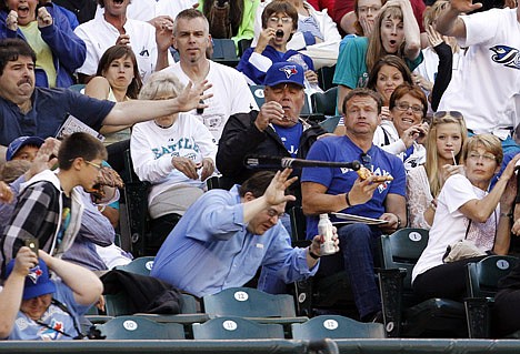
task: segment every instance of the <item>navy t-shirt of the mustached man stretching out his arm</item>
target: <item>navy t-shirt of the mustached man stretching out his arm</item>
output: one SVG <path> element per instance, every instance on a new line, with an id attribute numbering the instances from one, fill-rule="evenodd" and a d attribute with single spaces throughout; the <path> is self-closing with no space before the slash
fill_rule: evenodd
<path id="1" fill-rule="evenodd" d="M 89 98 L 68 89 L 36 88 L 32 109 L 23 114 L 17 104 L 0 98 L 0 145 L 9 145 L 19 136 L 56 136 L 70 113 L 99 130 L 114 102 Z"/>

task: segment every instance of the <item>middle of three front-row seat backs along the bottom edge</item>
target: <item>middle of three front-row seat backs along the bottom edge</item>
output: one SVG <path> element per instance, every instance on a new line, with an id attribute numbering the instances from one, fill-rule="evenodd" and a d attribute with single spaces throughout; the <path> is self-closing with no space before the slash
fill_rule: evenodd
<path id="1" fill-rule="evenodd" d="M 250 320 L 226 316 L 192 324 L 194 340 L 261 340 L 283 338 L 283 326 L 261 324 Z"/>

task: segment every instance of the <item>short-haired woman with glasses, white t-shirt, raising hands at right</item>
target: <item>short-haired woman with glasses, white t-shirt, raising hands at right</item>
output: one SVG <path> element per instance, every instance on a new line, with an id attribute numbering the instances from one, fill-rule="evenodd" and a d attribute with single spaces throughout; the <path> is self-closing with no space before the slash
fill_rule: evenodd
<path id="1" fill-rule="evenodd" d="M 466 264 L 479 261 L 488 252 L 508 253 L 509 215 L 517 194 L 517 180 L 512 176 L 520 154 L 511 160 L 489 191 L 502 158 L 502 146 L 497 136 L 480 134 L 468 139 L 462 153 L 466 175 L 456 173 L 444 182 L 428 245 L 413 267 L 412 286 L 421 299 L 462 300 L 466 296 Z M 450 261 L 448 246 L 453 247 L 464 240 L 472 255 Z"/>

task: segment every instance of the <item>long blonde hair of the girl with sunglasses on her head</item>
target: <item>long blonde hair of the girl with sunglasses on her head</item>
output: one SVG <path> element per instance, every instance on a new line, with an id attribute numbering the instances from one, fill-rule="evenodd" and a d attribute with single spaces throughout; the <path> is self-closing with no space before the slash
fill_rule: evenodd
<path id="1" fill-rule="evenodd" d="M 427 161 L 424 163 L 424 170 L 427 172 L 428 182 L 430 182 L 430 192 L 433 198 L 437 198 L 442 189 L 441 181 L 439 180 L 439 152 L 437 150 L 437 130 L 439 125 L 454 123 L 459 124 L 460 135 L 462 139 L 460 151 L 456 155 L 456 161 L 459 163 L 462 156 L 463 149 L 468 141 L 468 129 L 462 117 L 456 118 L 450 113 L 447 113 L 442 118 L 433 118 L 430 131 L 428 132 L 428 140 L 426 144 L 427 149 Z"/>

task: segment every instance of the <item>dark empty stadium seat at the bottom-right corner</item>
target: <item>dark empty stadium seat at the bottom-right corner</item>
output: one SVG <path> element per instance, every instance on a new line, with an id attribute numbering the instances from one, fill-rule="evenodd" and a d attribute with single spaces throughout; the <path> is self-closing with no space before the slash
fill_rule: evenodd
<path id="1" fill-rule="evenodd" d="M 470 338 L 491 337 L 490 307 L 498 292 L 498 282 L 518 264 L 510 255 L 490 255 L 467 265 L 468 299 L 464 300 Z"/>

